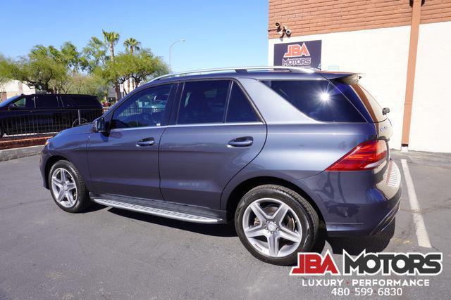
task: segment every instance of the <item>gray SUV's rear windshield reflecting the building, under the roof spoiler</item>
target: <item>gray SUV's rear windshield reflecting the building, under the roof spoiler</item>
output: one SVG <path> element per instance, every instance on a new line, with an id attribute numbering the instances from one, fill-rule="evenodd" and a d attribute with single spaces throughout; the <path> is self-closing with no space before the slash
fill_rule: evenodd
<path id="1" fill-rule="evenodd" d="M 387 119 L 382 113 L 382 107 L 376 99 L 360 84 L 344 84 L 333 81 L 342 93 L 359 109 L 369 122 L 382 122 Z"/>

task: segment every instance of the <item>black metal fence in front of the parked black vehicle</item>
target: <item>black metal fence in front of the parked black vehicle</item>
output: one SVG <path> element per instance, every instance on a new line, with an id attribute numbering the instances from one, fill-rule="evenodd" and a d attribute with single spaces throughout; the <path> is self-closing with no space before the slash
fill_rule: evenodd
<path id="1" fill-rule="evenodd" d="M 51 136 L 63 129 L 90 123 L 102 114 L 101 109 L 1 111 L 0 141 Z"/>

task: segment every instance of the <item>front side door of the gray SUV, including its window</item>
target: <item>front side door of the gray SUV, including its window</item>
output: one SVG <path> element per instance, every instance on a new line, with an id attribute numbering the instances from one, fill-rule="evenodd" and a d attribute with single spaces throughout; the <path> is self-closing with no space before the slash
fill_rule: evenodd
<path id="1" fill-rule="evenodd" d="M 166 84 L 133 93 L 106 116 L 109 133 L 92 134 L 87 153 L 95 192 L 163 200 L 158 150 L 176 87 Z"/>

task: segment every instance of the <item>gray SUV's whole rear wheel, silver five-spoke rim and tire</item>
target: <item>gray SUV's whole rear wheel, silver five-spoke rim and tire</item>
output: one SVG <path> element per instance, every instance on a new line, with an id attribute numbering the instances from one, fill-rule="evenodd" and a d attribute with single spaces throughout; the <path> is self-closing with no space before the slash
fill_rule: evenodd
<path id="1" fill-rule="evenodd" d="M 313 247 L 319 218 L 301 195 L 279 185 L 260 185 L 242 197 L 235 228 L 252 255 L 281 266 L 294 265 L 297 252 Z"/>

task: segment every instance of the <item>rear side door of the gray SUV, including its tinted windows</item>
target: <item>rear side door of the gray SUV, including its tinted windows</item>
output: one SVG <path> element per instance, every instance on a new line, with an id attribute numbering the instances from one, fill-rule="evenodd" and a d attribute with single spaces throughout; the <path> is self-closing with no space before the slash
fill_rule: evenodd
<path id="1" fill-rule="evenodd" d="M 235 81 L 186 81 L 161 137 L 164 200 L 219 209 L 221 193 L 263 148 L 266 124 Z"/>

